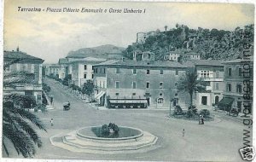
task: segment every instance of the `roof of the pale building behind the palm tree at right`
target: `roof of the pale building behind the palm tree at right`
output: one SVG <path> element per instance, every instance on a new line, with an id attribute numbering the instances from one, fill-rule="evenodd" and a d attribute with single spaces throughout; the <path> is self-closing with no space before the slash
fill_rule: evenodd
<path id="1" fill-rule="evenodd" d="M 224 67 L 223 61 L 218 60 L 191 60 L 184 63 L 188 67 L 195 66 L 211 66 L 211 67 Z"/>

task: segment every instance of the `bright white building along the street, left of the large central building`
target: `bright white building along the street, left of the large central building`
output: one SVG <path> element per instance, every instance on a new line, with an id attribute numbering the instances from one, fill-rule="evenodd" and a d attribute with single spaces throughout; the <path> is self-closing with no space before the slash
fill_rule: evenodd
<path id="1" fill-rule="evenodd" d="M 94 78 L 92 66 L 103 61 L 106 61 L 106 59 L 93 57 L 87 57 L 78 61 L 71 61 L 70 66 L 72 67 L 72 83 L 82 88 L 87 80 Z"/>

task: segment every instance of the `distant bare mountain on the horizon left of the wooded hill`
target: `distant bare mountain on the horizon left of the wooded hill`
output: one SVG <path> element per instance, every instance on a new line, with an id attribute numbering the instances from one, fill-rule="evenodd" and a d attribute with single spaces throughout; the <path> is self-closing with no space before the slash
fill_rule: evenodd
<path id="1" fill-rule="evenodd" d="M 70 51 L 67 54 L 69 58 L 84 58 L 84 57 L 96 57 L 105 59 L 120 59 L 123 57 L 122 51 L 125 48 L 117 47 L 112 44 L 101 45 L 92 48 L 83 48 L 75 51 Z"/>

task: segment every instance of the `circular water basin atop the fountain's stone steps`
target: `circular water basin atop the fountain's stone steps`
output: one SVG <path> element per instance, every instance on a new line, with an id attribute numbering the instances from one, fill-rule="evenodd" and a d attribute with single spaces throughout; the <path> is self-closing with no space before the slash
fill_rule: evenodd
<path id="1" fill-rule="evenodd" d="M 137 128 L 119 126 L 118 136 L 102 136 L 102 126 L 85 127 L 77 131 L 77 136 L 84 139 L 100 141 L 123 141 L 137 139 L 143 136 L 143 130 Z"/>

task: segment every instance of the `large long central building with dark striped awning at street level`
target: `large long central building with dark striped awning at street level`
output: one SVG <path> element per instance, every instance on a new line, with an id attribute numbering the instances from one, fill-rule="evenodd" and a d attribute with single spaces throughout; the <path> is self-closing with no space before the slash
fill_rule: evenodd
<path id="1" fill-rule="evenodd" d="M 94 66 L 96 100 L 107 107 L 170 107 L 185 105 L 189 97 L 177 93 L 186 71 L 178 62 L 106 61 Z"/>

